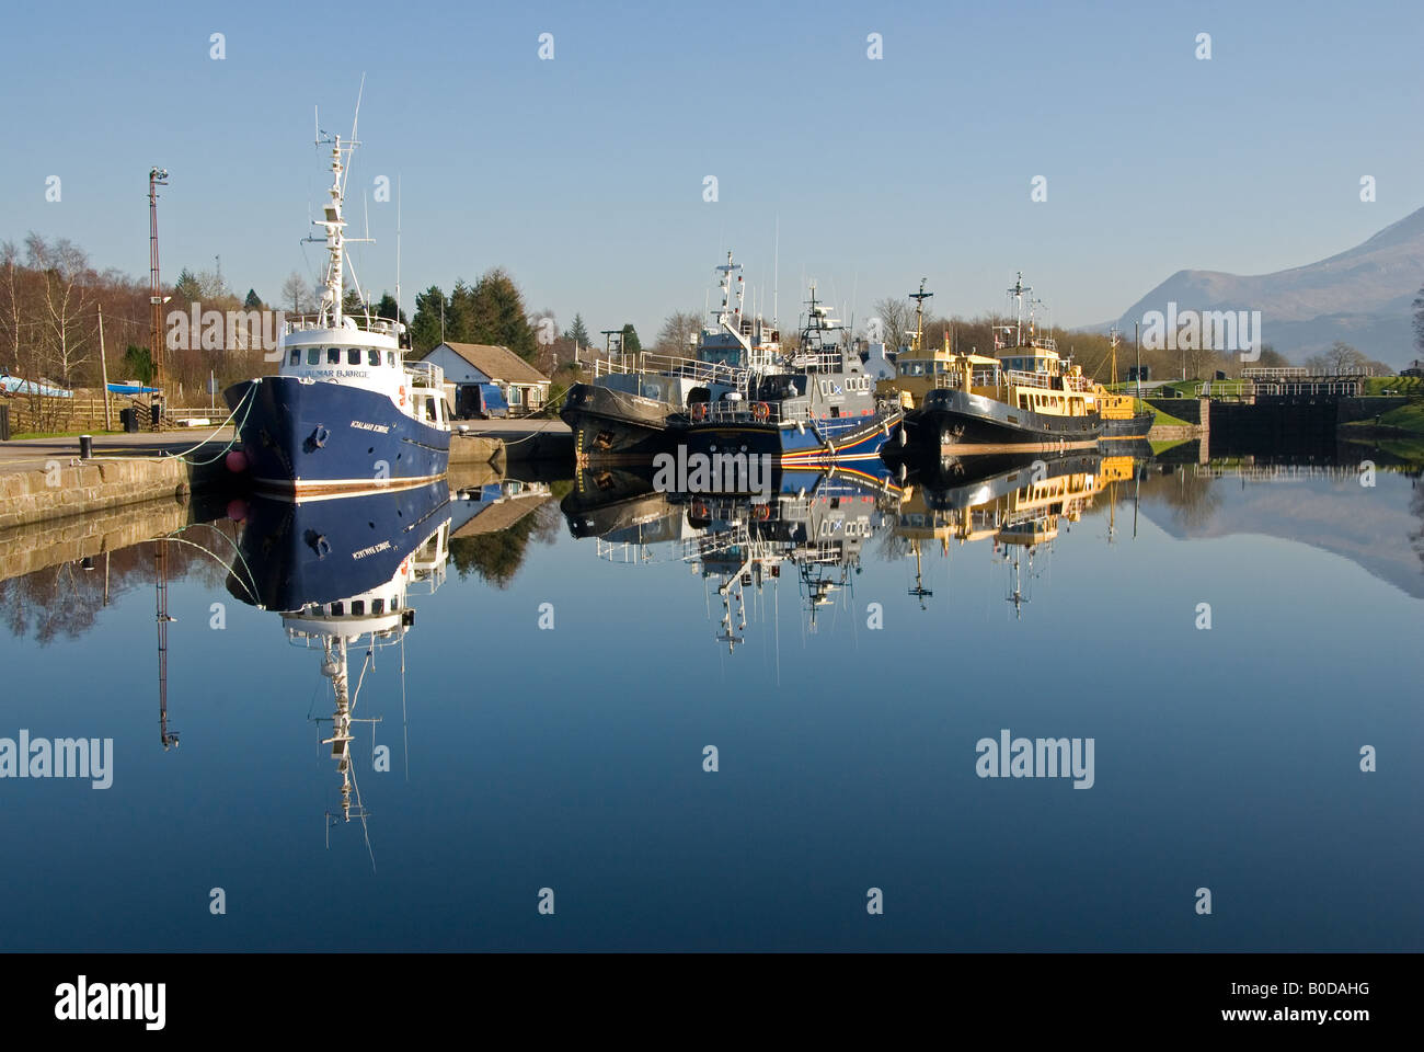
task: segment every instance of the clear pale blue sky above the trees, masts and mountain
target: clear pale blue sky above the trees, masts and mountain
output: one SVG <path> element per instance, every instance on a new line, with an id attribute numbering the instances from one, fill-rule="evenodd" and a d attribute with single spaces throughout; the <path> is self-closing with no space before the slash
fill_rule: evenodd
<path id="1" fill-rule="evenodd" d="M 320 261 L 313 104 L 347 133 L 365 73 L 347 215 L 399 177 L 407 311 L 504 265 L 531 309 L 651 336 L 732 248 L 770 312 L 779 222 L 783 322 L 803 278 L 859 321 L 921 277 L 941 312 L 998 308 L 1022 269 L 1085 325 L 1179 268 L 1307 264 L 1424 205 L 1421 29 L 1407 3 L 31 6 L 0 66 L 0 239 L 144 275 L 158 164 L 165 277 L 221 254 L 275 299 Z M 396 205 L 369 215 L 380 291 Z"/>

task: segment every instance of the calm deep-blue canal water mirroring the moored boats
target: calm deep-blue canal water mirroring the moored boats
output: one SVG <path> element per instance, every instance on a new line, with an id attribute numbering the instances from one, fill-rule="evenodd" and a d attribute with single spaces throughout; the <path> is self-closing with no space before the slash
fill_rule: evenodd
<path id="1" fill-rule="evenodd" d="M 0 948 L 1420 949 L 1418 480 L 1225 472 L 1096 465 L 1037 520 L 968 476 L 813 480 L 740 525 L 627 479 L 414 529 L 393 497 L 249 507 L 168 546 L 169 750 L 155 546 L 14 577 L 0 737 L 114 760 L 107 790 L 0 780 Z M 360 683 L 350 821 L 323 651 L 244 587 L 414 610 Z M 1092 738 L 1091 788 L 978 777 L 1004 728 Z"/>

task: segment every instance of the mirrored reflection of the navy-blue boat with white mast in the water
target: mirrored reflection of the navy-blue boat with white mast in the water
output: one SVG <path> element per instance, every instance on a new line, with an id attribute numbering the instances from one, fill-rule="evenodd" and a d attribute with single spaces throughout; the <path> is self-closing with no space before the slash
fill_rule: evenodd
<path id="1" fill-rule="evenodd" d="M 362 683 L 386 647 L 402 649 L 404 674 L 406 634 L 416 620 L 409 597 L 417 586 L 433 592 L 444 580 L 449 540 L 444 482 L 312 503 L 256 499 L 244 515 L 228 592 L 281 613 L 292 646 L 320 650 L 335 704 L 322 744 L 336 760 L 346 821 L 366 817 L 350 757 Z M 353 687 L 349 656 L 362 640 L 365 660 Z"/>

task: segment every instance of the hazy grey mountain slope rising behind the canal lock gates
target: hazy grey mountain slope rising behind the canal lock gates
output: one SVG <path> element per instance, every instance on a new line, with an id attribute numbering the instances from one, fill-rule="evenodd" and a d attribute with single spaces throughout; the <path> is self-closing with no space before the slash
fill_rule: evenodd
<path id="1" fill-rule="evenodd" d="M 1178 271 L 1118 319 L 1132 332 L 1148 311 L 1260 311 L 1263 342 L 1304 361 L 1343 339 L 1370 358 L 1418 358 L 1413 302 L 1424 285 L 1424 208 L 1329 259 L 1274 274 Z"/>

